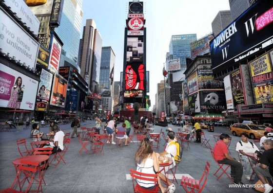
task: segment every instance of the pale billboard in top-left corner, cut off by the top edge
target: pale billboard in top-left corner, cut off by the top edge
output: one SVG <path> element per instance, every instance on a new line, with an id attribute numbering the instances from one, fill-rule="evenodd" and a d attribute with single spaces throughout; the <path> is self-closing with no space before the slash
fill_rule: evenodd
<path id="1" fill-rule="evenodd" d="M 5 0 L 3 3 L 10 7 L 13 13 L 16 13 L 16 16 L 25 23 L 29 30 L 33 31 L 33 34 L 38 35 L 40 21 L 25 4 L 24 0 Z"/>

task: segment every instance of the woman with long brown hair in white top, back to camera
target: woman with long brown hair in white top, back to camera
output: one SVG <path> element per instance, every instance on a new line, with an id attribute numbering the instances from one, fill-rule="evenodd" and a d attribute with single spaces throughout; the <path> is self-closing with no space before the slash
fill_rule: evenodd
<path id="1" fill-rule="evenodd" d="M 137 162 L 137 171 L 145 174 L 157 174 L 159 170 L 159 154 L 152 150 L 151 142 L 148 138 L 144 138 L 136 152 L 135 159 Z M 161 185 L 159 176 L 158 185 L 162 193 L 166 192 L 166 189 Z M 137 184 L 141 188 L 147 190 L 153 190 L 155 188 L 155 182 L 137 179 Z"/>

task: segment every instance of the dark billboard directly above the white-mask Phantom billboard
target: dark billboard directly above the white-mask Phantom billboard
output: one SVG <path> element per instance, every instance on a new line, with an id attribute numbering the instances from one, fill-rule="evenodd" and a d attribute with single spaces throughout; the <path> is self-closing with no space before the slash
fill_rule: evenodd
<path id="1" fill-rule="evenodd" d="M 223 88 L 223 81 L 221 79 L 214 79 L 212 69 L 198 69 L 197 73 L 199 89 Z"/>

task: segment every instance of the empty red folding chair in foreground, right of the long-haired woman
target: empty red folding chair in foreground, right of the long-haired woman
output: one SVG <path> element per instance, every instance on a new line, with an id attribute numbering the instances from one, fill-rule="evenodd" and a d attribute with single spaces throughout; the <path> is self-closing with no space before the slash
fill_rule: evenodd
<path id="1" fill-rule="evenodd" d="M 186 177 L 186 176 L 182 175 L 180 185 L 183 186 L 184 190 L 187 193 L 195 193 L 195 190 L 198 191 L 197 193 L 201 193 L 207 183 L 207 178 L 208 178 L 208 175 L 210 172 L 210 168 L 211 168 L 211 165 L 207 161 L 207 164 L 205 166 L 205 170 L 204 170 L 203 175 L 200 180 L 196 180 L 194 178 Z M 201 186 L 202 181 L 203 181 L 203 184 Z M 188 190 L 188 188 L 190 188 L 190 190 Z"/>

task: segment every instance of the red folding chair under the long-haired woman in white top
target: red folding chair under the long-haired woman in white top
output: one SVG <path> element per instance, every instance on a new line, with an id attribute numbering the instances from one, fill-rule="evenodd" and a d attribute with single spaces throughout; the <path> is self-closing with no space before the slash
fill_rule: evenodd
<path id="1" fill-rule="evenodd" d="M 134 193 L 158 193 L 159 185 L 158 185 L 157 174 L 145 174 L 145 173 L 137 172 L 132 169 L 130 169 L 130 173 L 133 178 L 132 181 L 133 181 Z M 141 186 L 139 186 L 137 183 L 137 181 L 141 182 L 141 180 L 146 180 L 146 181 L 150 181 L 151 183 L 155 183 L 155 188 L 152 190 L 141 188 Z"/>

